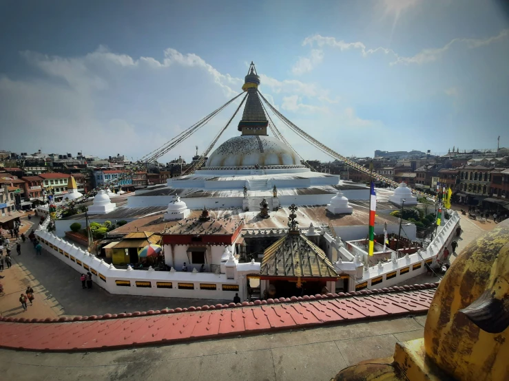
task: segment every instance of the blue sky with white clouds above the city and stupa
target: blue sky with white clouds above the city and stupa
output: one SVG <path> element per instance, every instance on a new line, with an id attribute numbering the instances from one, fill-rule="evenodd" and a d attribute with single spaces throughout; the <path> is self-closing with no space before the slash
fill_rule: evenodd
<path id="1" fill-rule="evenodd" d="M 240 93 L 250 61 L 343 155 L 509 146 L 508 20 L 489 0 L 1 1 L 0 149 L 136 159 Z M 205 149 L 234 109 L 162 160 Z"/>

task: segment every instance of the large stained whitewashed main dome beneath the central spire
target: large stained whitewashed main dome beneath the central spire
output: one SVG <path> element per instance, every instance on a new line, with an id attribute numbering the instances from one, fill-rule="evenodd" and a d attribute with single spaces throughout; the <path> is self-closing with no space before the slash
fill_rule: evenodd
<path id="1" fill-rule="evenodd" d="M 264 135 L 242 135 L 222 143 L 207 160 L 209 166 L 298 165 L 293 150 L 276 138 Z"/>

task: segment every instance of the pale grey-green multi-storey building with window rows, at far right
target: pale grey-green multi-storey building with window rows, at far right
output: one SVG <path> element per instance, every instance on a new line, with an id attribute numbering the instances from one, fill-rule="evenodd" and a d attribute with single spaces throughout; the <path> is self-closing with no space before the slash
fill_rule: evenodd
<path id="1" fill-rule="evenodd" d="M 466 165 L 457 168 L 459 170 L 459 193 L 460 202 L 476 204 L 488 197 L 492 168 L 480 165 Z"/>

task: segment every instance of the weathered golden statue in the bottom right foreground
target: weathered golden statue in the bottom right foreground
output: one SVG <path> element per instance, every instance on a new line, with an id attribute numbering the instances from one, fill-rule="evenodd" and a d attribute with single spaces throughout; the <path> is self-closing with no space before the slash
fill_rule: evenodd
<path id="1" fill-rule="evenodd" d="M 333 380 L 509 380 L 509 220 L 472 241 L 447 270 L 424 339 L 362 361 Z"/>

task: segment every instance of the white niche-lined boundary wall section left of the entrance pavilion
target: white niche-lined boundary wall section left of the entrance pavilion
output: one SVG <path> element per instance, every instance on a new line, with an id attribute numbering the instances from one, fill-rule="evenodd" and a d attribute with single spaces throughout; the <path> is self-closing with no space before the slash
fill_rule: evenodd
<path id="1" fill-rule="evenodd" d="M 35 231 L 43 248 L 79 274 L 92 272 L 92 281 L 111 294 L 233 301 L 233 296 L 238 292 L 241 300 L 245 300 L 245 276 L 260 273 L 260 263 L 236 263 L 233 279 L 227 279 L 226 274 L 207 272 L 117 269 L 48 232 L 46 228 L 49 222 L 50 219 L 46 219 Z M 76 274 L 76 282 L 79 282 L 79 274 Z"/>

